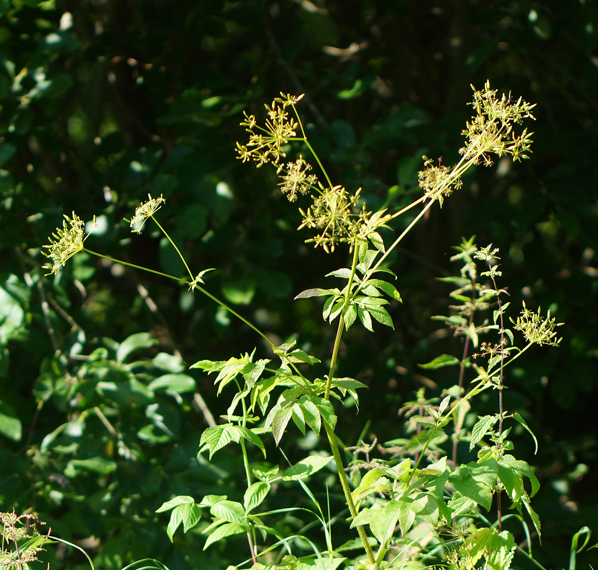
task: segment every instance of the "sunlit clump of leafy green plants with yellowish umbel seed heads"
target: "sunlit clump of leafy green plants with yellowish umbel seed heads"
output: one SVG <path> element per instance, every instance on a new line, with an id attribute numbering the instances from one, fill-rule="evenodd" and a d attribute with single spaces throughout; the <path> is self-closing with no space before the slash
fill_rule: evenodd
<path id="1" fill-rule="evenodd" d="M 511 532 L 503 528 L 505 520 L 517 519 L 529 544 L 531 533 L 527 520 L 531 520 L 538 536 L 540 522 L 531 504 L 538 491 L 538 479 L 526 462 L 515 459 L 511 453 L 512 425 L 521 425 L 530 433 L 531 430 L 520 414 L 504 409 L 505 369 L 533 344 L 558 345 L 560 339 L 555 331 L 559 323 L 550 312 L 542 317 L 539 309 L 534 312 L 523 305 L 515 320 L 508 319 L 507 293 L 498 284 L 501 271 L 497 248 L 492 245 L 478 248 L 473 238 L 464 239 L 456 248 L 453 259 L 462 262 L 462 269 L 459 276 L 444 280 L 456 287 L 451 296 L 459 304 L 452 307 L 450 316 L 435 318 L 446 323 L 455 335 L 463 337 L 463 351 L 459 357 L 443 354 L 423 367 L 454 366 L 458 370 L 458 381 L 444 390 L 441 401 L 440 398 L 426 399 L 421 390 L 416 401 L 405 406 L 409 437 L 393 439 L 380 446 L 384 453 L 379 459 L 370 457 L 374 446 L 365 445 L 363 441 L 341 449 L 337 433 L 342 426 L 337 423 L 333 402 L 352 398 L 357 403 L 358 390 L 365 387 L 354 378 L 336 375 L 344 332 L 358 322 L 368 331 L 373 331 L 374 321 L 393 328 L 387 307 L 390 300 L 400 302 L 401 295 L 391 282 L 396 277 L 386 264 L 390 252 L 433 204 L 438 202 L 442 206 L 444 199 L 459 189 L 463 173 L 471 166 L 490 165 L 492 154 L 511 155 L 513 160 L 528 157 L 532 133 L 527 129 L 517 133 L 516 125 L 523 119 L 533 119 L 534 105 L 521 98 L 514 101 L 510 94 L 499 97 L 489 83 L 482 90 L 474 89 L 474 116 L 463 130 L 465 145 L 460 149 L 459 162 L 450 168 L 440 160 L 435 164 L 423 157 L 424 168 L 419 172 L 423 195 L 407 207 L 390 213 L 369 211 L 359 190 L 350 193 L 332 183 L 297 113 L 300 99 L 301 96 L 281 93 L 280 98 L 266 105 L 267 118 L 263 126 L 255 116 L 245 114 L 241 125 L 249 133 L 249 141 L 237 143 L 237 152 L 243 162 L 253 161 L 258 167 L 273 165 L 280 176 L 280 190 L 289 201 L 304 197 L 310 202 L 299 209 L 299 229 L 312 229 L 316 234 L 306 242 L 316 248 L 321 246 L 327 252 L 340 245 L 348 250 L 349 266 L 329 274 L 341 284 L 329 289 L 308 289 L 297 295 L 297 299 L 324 297 L 322 316 L 325 321 L 337 323 L 328 374 L 313 377 L 310 370 L 319 362 L 316 357 L 297 347 L 295 342 L 274 345 L 255 325 L 204 289 L 203 277 L 210 270 L 203 269 L 195 275 L 170 240 L 189 275 L 188 280 L 178 280 L 251 326 L 270 343 L 276 356 L 260 358 L 254 349 L 225 361 L 205 359 L 191 366 L 215 375 L 218 394 L 233 389 L 227 413 L 222 416 L 225 423 L 203 432 L 199 453 L 208 453 L 212 460 L 216 451 L 232 442 L 238 444 L 245 467 L 246 490 L 242 501 L 224 495 L 208 495 L 199 502 L 190 496 L 176 496 L 157 512 L 170 511 L 167 533 L 171 540 L 181 524 L 187 532 L 205 516 L 211 517 L 212 523 L 203 529 L 207 536 L 204 549 L 233 535 L 245 536 L 247 556 L 238 567 L 251 566 L 256 570 L 334 570 L 339 566 L 416 569 L 431 565 L 459 570 L 508 570 L 517 545 Z M 309 152 L 315 164 L 301 155 L 288 162 L 286 156 L 291 150 Z M 319 175 L 314 173 L 316 165 Z M 130 222 L 132 231 L 141 231 L 151 218 L 169 238 L 155 219 L 163 202 L 161 196 L 149 196 L 149 201 L 136 210 Z M 416 207 L 420 208 L 417 215 L 391 244 L 385 244 L 379 229 L 392 228 L 396 219 Z M 59 271 L 78 251 L 99 255 L 84 247 L 84 239 L 84 223 L 74 213 L 72 218 L 65 216 L 63 228 L 58 229 L 50 245 L 45 246 L 45 254 L 52 262 L 48 266 L 50 272 Z M 488 311 L 492 311 L 492 317 L 484 316 Z M 516 340 L 520 333 L 522 341 Z M 481 337 L 489 340 L 480 342 Z M 518 347 L 516 342 L 523 344 Z M 473 350 L 475 354 L 471 354 Z M 496 390 L 498 411 L 478 417 L 470 432 L 464 427 L 465 417 L 474 398 L 486 390 Z M 279 461 L 274 466 L 266 463 L 265 438 L 271 435 L 278 446 L 291 425 L 303 435 L 308 431 L 316 436 L 325 433 L 332 454 L 309 454 L 286 468 L 279 468 Z M 459 444 L 468 445 L 470 451 L 477 448 L 478 459 L 459 465 Z M 341 451 L 344 457 L 349 457 L 347 465 Z M 264 461 L 259 459 L 260 455 L 254 456 L 254 452 L 261 452 Z M 336 516 L 329 513 L 326 505 L 319 504 L 307 484 L 310 475 L 332 463 L 348 509 Z M 263 509 L 263 505 L 268 504 L 264 501 L 269 493 L 282 482 L 295 482 L 313 504 L 310 512 L 314 522 L 294 535 L 281 533 L 271 521 L 277 514 L 285 516 L 305 511 L 304 508 Z M 496 516 L 489 514 L 493 504 Z M 512 512 L 505 514 L 507 508 Z M 335 547 L 332 524 L 347 519 L 347 513 L 356 537 Z M 324 548 L 305 535 L 307 527 L 313 524 L 321 526 Z M 298 556 L 304 554 L 306 545 L 313 553 Z M 521 552 L 532 556 L 531 546 L 527 552 Z"/>

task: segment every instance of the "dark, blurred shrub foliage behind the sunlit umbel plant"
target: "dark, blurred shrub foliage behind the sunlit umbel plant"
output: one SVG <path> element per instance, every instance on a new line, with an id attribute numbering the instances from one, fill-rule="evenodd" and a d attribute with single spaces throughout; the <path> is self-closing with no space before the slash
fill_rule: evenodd
<path id="1" fill-rule="evenodd" d="M 396 211 L 419 196 L 422 154 L 456 162 L 469 84 L 489 78 L 538 103 L 532 159 L 475 169 L 397 248 L 395 331 L 355 327 L 341 351 L 341 373 L 369 386 L 357 416 L 339 410 L 341 436 L 399 437 L 414 391 L 454 383 L 417 363 L 460 353 L 430 318 L 450 304 L 435 277 L 458 270 L 451 246 L 475 234 L 501 248 L 515 307 L 523 298 L 566 323 L 560 350 L 538 350 L 507 380 L 507 409 L 540 439 L 538 456 L 523 435 L 517 447 L 542 483 L 535 555 L 560 568 L 579 527 L 598 532 L 594 0 L 1 0 L 0 14 L 2 510 L 37 511 L 106 569 L 144 556 L 170 568 L 237 562 L 219 546 L 202 553 L 197 533 L 173 548 L 154 511 L 173 494 L 241 496 L 233 451 L 196 459 L 226 406 L 185 363 L 267 347 L 155 275 L 80 254 L 44 277 L 41 246 L 75 210 L 97 216 L 87 247 L 183 275 L 155 227 L 132 236 L 123 220 L 162 194 L 158 217 L 192 270 L 217 268 L 208 289 L 275 342 L 297 336 L 325 360 L 334 333 L 320 305 L 292 298 L 329 283 L 346 252 L 304 245 L 274 172 L 235 159 L 242 110 L 260 116 L 279 91 L 305 92 L 308 135 L 335 183 Z M 492 398 L 476 412 L 493 413 Z M 290 456 L 323 445 L 286 441 Z"/>

